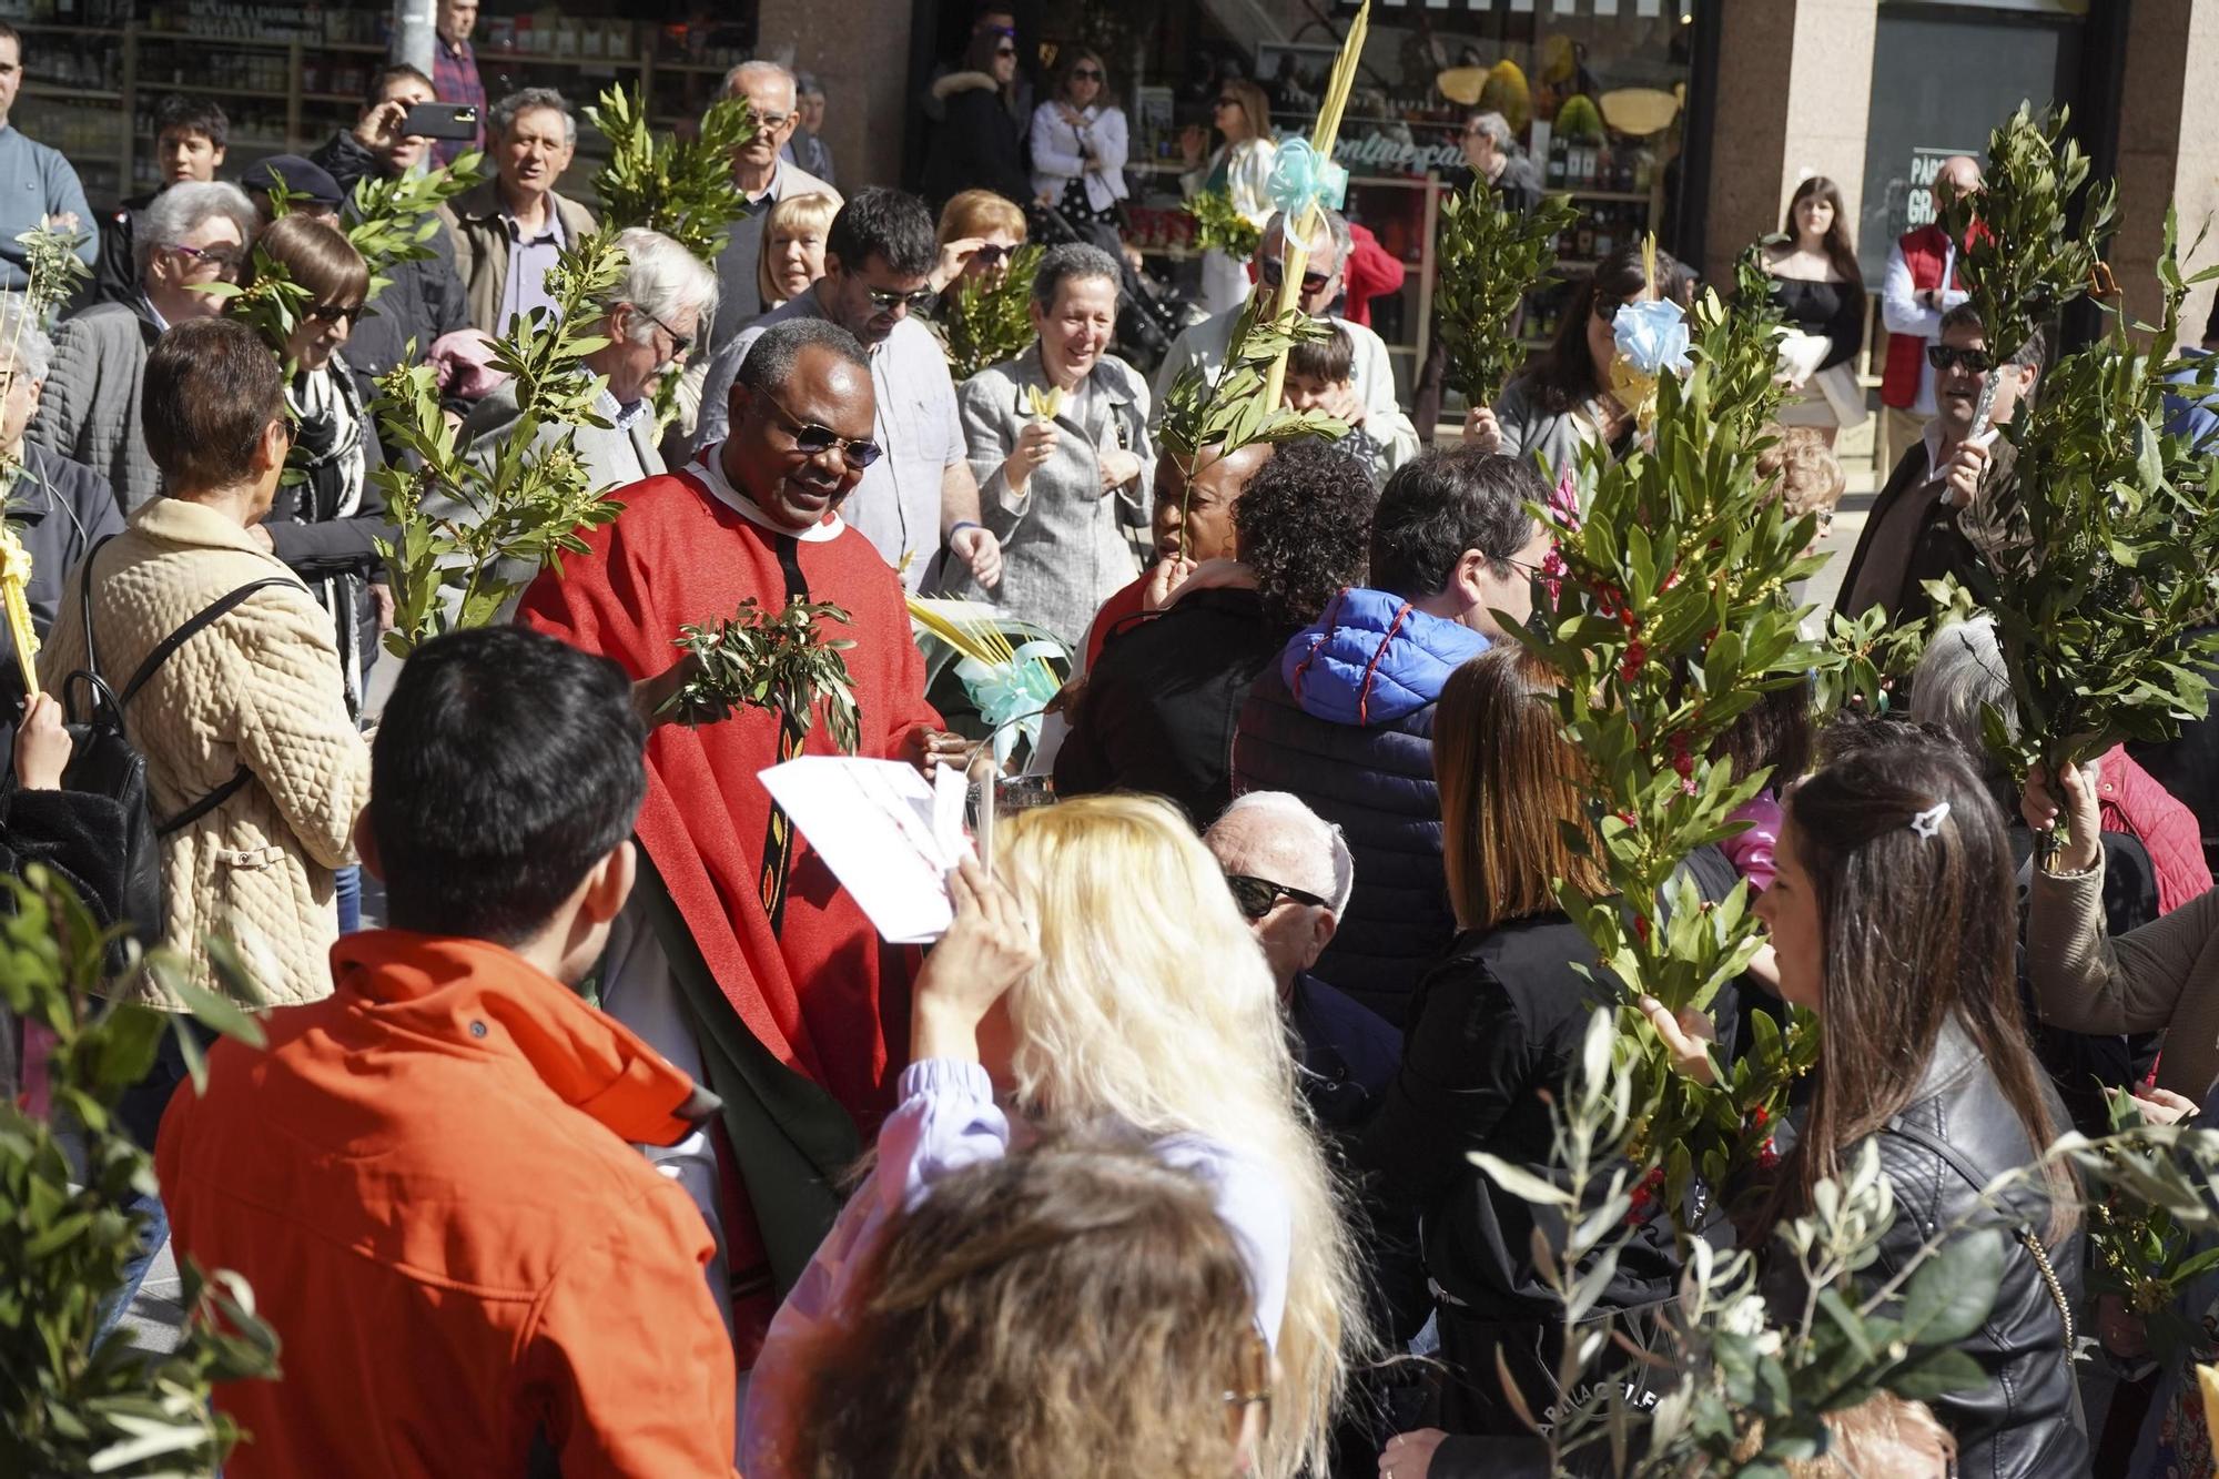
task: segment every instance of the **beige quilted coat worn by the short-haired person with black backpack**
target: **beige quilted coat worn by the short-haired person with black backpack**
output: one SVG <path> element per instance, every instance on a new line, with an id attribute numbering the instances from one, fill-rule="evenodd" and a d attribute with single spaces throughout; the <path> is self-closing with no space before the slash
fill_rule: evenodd
<path id="1" fill-rule="evenodd" d="M 200 942 L 233 939 L 262 1004 L 291 1006 L 331 995 L 333 868 L 353 859 L 355 815 L 371 795 L 371 751 L 346 715 L 331 615 L 226 515 L 155 497 L 100 551 L 93 633 L 100 673 L 122 691 L 195 611 L 268 575 L 291 588 L 255 591 L 178 648 L 124 711 L 124 728 L 146 757 L 155 819 L 215 791 L 240 764 L 253 773 L 237 795 L 162 842 L 162 939 L 197 962 L 204 986 L 215 979 Z M 38 657 L 51 691 L 84 666 L 78 588 L 71 575 Z M 131 995 L 182 1008 L 151 984 Z"/>

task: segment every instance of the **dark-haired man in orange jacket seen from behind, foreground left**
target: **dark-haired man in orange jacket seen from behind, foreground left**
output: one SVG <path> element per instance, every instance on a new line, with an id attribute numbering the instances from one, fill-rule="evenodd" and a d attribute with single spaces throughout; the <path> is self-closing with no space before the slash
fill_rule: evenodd
<path id="1" fill-rule="evenodd" d="M 280 1381 L 215 1403 L 257 1475 L 732 1475 L 701 1215 L 626 1141 L 715 1099 L 577 995 L 632 888 L 630 684 L 521 628 L 426 644 L 373 751 L 395 928 L 224 1042 L 155 1148 L 178 1248 L 253 1284 Z"/>

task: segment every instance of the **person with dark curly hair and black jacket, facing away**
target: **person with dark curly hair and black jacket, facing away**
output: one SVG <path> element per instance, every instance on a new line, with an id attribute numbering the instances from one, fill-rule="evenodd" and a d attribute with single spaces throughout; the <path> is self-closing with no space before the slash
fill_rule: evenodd
<path id="1" fill-rule="evenodd" d="M 1329 442 L 1271 453 L 1234 504 L 1234 560 L 1209 560 L 1103 646 L 1056 753 L 1056 793 L 1152 791 L 1209 826 L 1232 802 L 1240 704 L 1296 631 L 1362 584 L 1378 491 Z"/>

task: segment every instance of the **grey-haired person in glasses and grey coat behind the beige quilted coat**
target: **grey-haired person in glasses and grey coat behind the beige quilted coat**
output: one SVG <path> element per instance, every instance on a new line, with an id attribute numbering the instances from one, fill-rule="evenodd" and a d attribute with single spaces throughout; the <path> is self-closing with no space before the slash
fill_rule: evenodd
<path id="1" fill-rule="evenodd" d="M 146 453 L 140 391 L 146 353 L 171 324 L 215 318 L 224 300 L 200 289 L 237 282 L 260 220 L 237 184 L 173 184 L 140 224 L 138 293 L 100 302 L 53 335 L 53 369 L 24 440 L 82 462 L 115 489 L 124 513 L 162 491 Z"/>

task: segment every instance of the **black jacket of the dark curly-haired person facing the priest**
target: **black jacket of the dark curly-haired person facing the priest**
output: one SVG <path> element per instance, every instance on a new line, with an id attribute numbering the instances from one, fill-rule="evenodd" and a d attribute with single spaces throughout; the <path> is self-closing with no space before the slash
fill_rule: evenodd
<path id="1" fill-rule="evenodd" d="M 1056 793 L 1149 791 L 1203 828 L 1232 802 L 1234 724 L 1294 628 L 1254 591 L 1194 591 L 1110 637 L 1056 753 Z"/>

